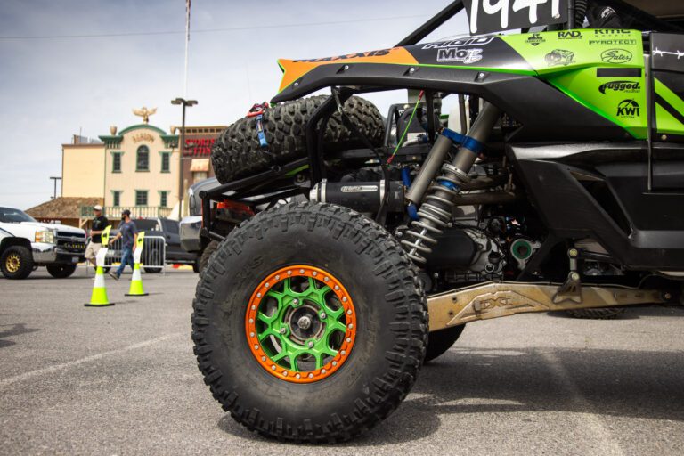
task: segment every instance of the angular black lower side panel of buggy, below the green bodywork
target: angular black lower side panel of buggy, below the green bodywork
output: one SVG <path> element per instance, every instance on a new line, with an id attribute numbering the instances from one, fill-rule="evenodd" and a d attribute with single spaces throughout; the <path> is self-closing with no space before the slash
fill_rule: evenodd
<path id="1" fill-rule="evenodd" d="M 656 167 L 654 179 L 684 180 L 684 147 L 666 147 L 680 159 Z M 647 191 L 645 142 L 520 145 L 508 154 L 551 235 L 598 240 L 631 269 L 684 270 L 684 191 Z"/>

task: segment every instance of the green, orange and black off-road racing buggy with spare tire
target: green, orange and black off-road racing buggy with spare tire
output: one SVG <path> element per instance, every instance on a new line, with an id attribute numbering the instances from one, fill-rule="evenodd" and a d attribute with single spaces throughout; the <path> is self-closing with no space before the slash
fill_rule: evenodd
<path id="1" fill-rule="evenodd" d="M 468 322 L 680 298 L 681 7 L 483 4 L 453 2 L 391 49 L 279 61 L 278 104 L 216 142 L 202 232 L 220 244 L 192 338 L 249 429 L 357 436 Z M 464 8 L 473 33 L 523 30 L 418 44 Z M 356 96 L 397 88 L 411 104 L 386 125 Z"/>

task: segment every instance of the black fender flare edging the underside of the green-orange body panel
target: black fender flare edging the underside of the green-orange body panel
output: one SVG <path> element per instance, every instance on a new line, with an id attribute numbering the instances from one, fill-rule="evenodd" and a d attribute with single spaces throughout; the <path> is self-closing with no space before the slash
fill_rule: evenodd
<path id="1" fill-rule="evenodd" d="M 531 76 L 472 69 L 411 67 L 375 63 L 322 65 L 273 98 L 281 102 L 326 86 L 365 85 L 373 90 L 414 88 L 473 94 L 501 108 L 523 126 L 516 141 L 624 140 L 626 132 L 556 88 Z M 411 69 L 413 69 L 411 71 Z M 307 84 L 311 80 L 311 84 Z M 533 107 L 533 109 L 530 109 Z"/>

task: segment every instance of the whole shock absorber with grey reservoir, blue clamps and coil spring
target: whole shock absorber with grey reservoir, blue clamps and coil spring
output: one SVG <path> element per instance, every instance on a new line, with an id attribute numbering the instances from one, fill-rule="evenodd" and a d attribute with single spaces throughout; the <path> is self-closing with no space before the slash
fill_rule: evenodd
<path id="1" fill-rule="evenodd" d="M 419 175 L 406 193 L 406 199 L 419 206 L 418 220 L 411 223 L 411 229 L 406 232 L 407 239 L 402 240 L 408 256 L 416 263 L 426 263 L 424 255 L 432 251 L 429 245 L 434 246 L 437 243 L 435 236 L 442 234 L 451 221 L 452 208 L 459 196 L 460 186 L 468 182 L 470 168 L 483 149 L 483 144 L 500 114 L 498 108 L 485 102 L 467 135 L 444 129 L 420 167 Z M 460 144 L 459 151 L 451 163 L 444 162 L 446 153 L 454 143 Z M 442 174 L 435 178 L 432 186 L 429 186 L 440 165 Z"/>

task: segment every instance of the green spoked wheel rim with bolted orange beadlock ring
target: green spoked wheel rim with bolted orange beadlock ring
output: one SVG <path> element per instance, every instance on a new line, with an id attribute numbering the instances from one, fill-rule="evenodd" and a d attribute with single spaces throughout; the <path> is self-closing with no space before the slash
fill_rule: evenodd
<path id="1" fill-rule="evenodd" d="M 356 310 L 334 275 L 290 265 L 256 287 L 245 330 L 249 349 L 265 371 L 277 379 L 312 383 L 330 377 L 349 359 Z"/>

